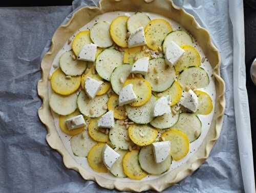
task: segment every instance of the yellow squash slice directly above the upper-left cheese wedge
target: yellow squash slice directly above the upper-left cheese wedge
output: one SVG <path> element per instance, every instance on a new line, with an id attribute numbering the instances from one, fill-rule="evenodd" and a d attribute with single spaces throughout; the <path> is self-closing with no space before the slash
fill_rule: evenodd
<path id="1" fill-rule="evenodd" d="M 90 31 L 81 31 L 76 34 L 72 42 L 72 50 L 76 56 L 78 56 L 80 50 L 84 45 L 91 44 Z"/>

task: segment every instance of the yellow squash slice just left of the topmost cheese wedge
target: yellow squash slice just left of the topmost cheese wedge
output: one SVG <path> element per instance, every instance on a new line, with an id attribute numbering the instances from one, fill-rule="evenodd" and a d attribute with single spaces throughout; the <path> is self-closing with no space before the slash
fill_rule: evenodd
<path id="1" fill-rule="evenodd" d="M 119 16 L 115 18 L 110 25 L 110 36 L 113 41 L 120 47 L 127 47 L 127 16 Z"/>

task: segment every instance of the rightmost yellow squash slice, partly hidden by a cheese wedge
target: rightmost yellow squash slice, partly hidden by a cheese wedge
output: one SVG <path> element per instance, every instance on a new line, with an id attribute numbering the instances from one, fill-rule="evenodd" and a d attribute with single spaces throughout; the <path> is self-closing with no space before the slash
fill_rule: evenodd
<path id="1" fill-rule="evenodd" d="M 210 114 L 213 109 L 212 100 L 210 96 L 207 93 L 199 90 L 197 90 L 195 93 L 197 94 L 198 102 L 199 102 L 196 114 L 200 114 L 200 115 Z"/>

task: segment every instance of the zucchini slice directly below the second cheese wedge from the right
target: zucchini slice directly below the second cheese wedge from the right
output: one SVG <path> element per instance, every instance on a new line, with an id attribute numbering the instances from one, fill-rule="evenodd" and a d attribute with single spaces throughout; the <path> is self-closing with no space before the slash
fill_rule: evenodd
<path id="1" fill-rule="evenodd" d="M 150 122 L 150 124 L 156 128 L 161 128 L 162 130 L 164 130 L 175 125 L 178 119 L 179 112 L 176 115 L 173 115 L 172 113 L 164 114 L 162 116 L 156 117 L 153 121 Z"/>

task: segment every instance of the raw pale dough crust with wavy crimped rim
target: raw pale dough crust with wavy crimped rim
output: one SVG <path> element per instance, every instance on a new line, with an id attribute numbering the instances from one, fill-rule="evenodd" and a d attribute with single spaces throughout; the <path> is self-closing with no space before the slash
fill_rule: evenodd
<path id="1" fill-rule="evenodd" d="M 153 12 L 171 18 L 181 24 L 189 31 L 198 41 L 214 72 L 214 82 L 216 86 L 216 106 L 214 117 L 204 141 L 197 149 L 194 155 L 180 167 L 174 169 L 171 173 L 166 173 L 157 179 L 138 181 L 138 182 L 120 182 L 118 179 L 110 180 L 99 175 L 95 175 L 90 171 L 82 168 L 68 153 L 67 149 L 60 140 L 56 128 L 54 126 L 53 116 L 49 106 L 49 80 L 48 75 L 52 66 L 52 62 L 58 51 L 65 45 L 65 42 L 81 27 L 90 22 L 95 16 L 111 11 L 141 11 Z M 125 191 L 145 191 L 154 189 L 162 191 L 181 181 L 189 174 L 193 173 L 209 156 L 216 140 L 221 133 L 223 122 L 223 114 L 225 109 L 225 83 L 220 77 L 220 54 L 210 39 L 209 32 L 200 27 L 194 16 L 186 13 L 183 9 L 175 6 L 169 0 L 155 0 L 146 3 L 143 0 L 101 0 L 99 7 L 82 7 L 77 10 L 69 22 L 60 26 L 52 37 L 50 50 L 42 58 L 41 61 L 41 79 L 38 81 L 38 95 L 42 99 L 42 106 L 38 110 L 38 115 L 42 123 L 47 127 L 46 140 L 48 144 L 56 149 L 63 157 L 63 162 L 67 168 L 78 171 L 82 178 L 86 180 L 94 180 L 100 186 L 108 189 L 116 188 Z"/>

